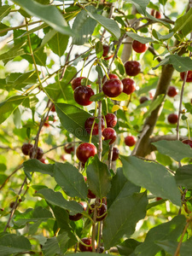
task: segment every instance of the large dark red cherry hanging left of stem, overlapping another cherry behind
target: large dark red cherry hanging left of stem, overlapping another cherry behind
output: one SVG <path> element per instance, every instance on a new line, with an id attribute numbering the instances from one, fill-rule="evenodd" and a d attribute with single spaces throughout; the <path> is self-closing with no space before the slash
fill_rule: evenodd
<path id="1" fill-rule="evenodd" d="M 74 100 L 82 106 L 88 106 L 92 102 L 90 102 L 90 96 L 93 96 L 94 91 L 87 86 L 80 85 L 74 90 Z"/>

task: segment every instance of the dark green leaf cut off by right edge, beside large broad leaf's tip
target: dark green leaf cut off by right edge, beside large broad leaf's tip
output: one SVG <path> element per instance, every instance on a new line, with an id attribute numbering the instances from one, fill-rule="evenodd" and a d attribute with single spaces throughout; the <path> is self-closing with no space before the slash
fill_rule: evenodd
<path id="1" fill-rule="evenodd" d="M 186 189 L 192 189 L 192 165 L 179 167 L 175 178 L 178 186 L 183 186 Z"/>

